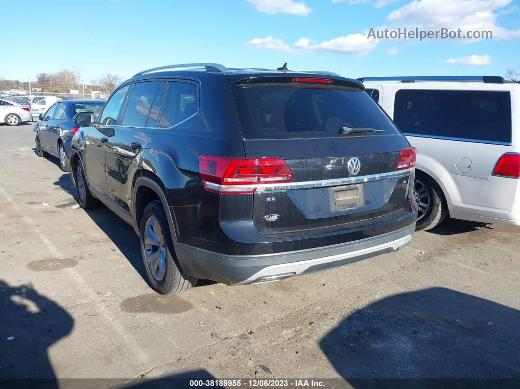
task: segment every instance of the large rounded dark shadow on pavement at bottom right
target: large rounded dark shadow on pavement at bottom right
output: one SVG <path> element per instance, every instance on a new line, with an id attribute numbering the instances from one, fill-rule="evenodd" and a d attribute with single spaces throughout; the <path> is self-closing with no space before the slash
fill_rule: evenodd
<path id="1" fill-rule="evenodd" d="M 520 311 L 508 306 L 431 288 L 360 308 L 320 346 L 354 387 L 417 387 L 418 379 L 421 387 L 454 387 L 457 381 L 475 387 L 484 382 L 475 379 L 516 379 L 486 383 L 509 387 L 520 383 L 519 323 Z"/>

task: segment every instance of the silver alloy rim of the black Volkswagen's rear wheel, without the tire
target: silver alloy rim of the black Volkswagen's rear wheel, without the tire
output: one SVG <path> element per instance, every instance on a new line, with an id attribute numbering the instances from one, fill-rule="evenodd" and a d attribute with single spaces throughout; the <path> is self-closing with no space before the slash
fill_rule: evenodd
<path id="1" fill-rule="evenodd" d="M 155 280 L 161 281 L 166 273 L 166 244 L 161 224 L 154 216 L 146 221 L 144 243 L 150 274 Z"/>

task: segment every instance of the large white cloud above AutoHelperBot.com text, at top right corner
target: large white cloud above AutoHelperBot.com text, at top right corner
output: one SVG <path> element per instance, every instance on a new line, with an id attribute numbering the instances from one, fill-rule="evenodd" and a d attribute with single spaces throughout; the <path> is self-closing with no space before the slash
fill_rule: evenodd
<path id="1" fill-rule="evenodd" d="M 413 0 L 388 15 L 388 20 L 401 27 L 423 30 L 461 29 L 492 31 L 493 38 L 518 38 L 520 29 L 508 30 L 497 25 L 500 8 L 512 0 Z M 497 11 L 498 10 L 498 11 Z M 477 42 L 466 39 L 465 42 Z"/>

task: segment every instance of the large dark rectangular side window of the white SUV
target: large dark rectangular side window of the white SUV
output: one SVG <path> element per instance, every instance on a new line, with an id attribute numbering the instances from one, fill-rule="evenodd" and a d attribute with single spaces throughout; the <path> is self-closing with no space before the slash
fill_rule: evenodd
<path id="1" fill-rule="evenodd" d="M 394 122 L 409 134 L 511 143 L 511 95 L 501 91 L 399 90 Z"/>

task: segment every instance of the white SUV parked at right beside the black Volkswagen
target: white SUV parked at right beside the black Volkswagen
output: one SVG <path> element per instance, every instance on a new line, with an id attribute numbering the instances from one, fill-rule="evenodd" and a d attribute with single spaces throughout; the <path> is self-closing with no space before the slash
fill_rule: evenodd
<path id="1" fill-rule="evenodd" d="M 448 214 L 520 225 L 520 84 L 495 76 L 359 80 L 417 147 L 418 230 Z"/>

